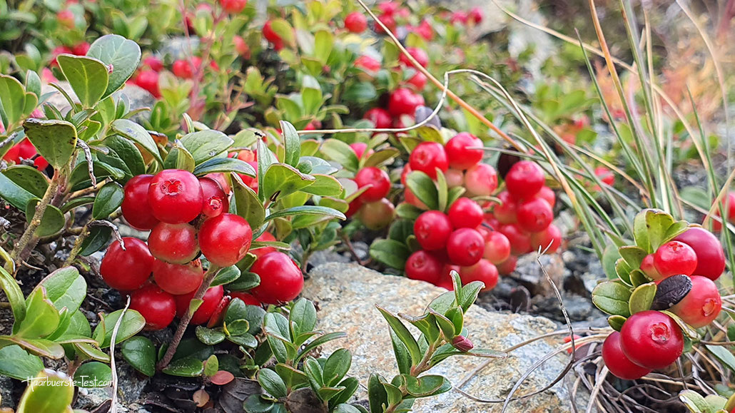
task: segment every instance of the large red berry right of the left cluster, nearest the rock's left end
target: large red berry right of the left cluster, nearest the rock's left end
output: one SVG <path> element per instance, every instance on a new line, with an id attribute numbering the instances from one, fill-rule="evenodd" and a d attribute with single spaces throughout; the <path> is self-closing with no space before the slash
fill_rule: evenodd
<path id="1" fill-rule="evenodd" d="M 260 284 L 250 292 L 261 303 L 286 303 L 298 297 L 304 288 L 301 270 L 290 256 L 279 251 L 256 259 L 250 271 L 260 276 Z"/>

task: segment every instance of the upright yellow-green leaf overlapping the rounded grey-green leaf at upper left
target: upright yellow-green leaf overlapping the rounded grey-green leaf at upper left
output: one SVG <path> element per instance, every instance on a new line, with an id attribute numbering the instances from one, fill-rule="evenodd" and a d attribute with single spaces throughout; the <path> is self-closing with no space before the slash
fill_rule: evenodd
<path id="1" fill-rule="evenodd" d="M 103 62 L 71 54 L 60 54 L 56 61 L 82 106 L 94 107 L 105 96 L 110 76 Z"/>

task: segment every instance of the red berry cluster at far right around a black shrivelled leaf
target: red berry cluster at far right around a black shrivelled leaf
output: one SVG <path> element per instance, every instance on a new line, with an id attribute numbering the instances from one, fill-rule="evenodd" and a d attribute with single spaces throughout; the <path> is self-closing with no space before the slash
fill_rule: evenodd
<path id="1" fill-rule="evenodd" d="M 671 276 L 689 277 L 692 289 L 669 309 L 689 326 L 707 326 L 720 315 L 723 303 L 714 280 L 725 270 L 725 253 L 706 229 L 687 229 L 646 256 L 640 269 L 656 284 Z M 602 355 L 614 376 L 634 380 L 667 367 L 683 351 L 681 327 L 669 315 L 649 310 L 631 315 L 619 333 L 610 334 Z"/>

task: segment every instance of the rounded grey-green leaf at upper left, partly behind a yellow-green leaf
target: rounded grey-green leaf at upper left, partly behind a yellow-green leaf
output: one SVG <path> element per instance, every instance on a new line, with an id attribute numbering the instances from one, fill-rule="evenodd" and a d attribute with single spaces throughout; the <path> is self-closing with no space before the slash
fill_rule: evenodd
<path id="1" fill-rule="evenodd" d="M 107 89 L 102 95 L 104 98 L 122 87 L 135 73 L 140 63 L 140 46 L 122 36 L 104 35 L 92 43 L 87 56 L 94 57 L 106 65 L 112 65 Z"/>

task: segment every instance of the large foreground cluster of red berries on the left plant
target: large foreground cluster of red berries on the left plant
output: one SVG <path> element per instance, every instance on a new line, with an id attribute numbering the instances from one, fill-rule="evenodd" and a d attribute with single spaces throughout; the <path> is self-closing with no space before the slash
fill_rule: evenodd
<path id="1" fill-rule="evenodd" d="M 187 312 L 201 287 L 200 252 L 210 265 L 229 267 L 248 253 L 253 233 L 244 218 L 228 212 L 229 195 L 212 177 L 167 169 L 155 176 L 135 176 L 124 191 L 123 218 L 151 233 L 147 244 L 132 237 L 112 243 L 100 274 L 110 287 L 130 295 L 130 308 L 146 318 L 147 328 L 165 328 Z M 265 234 L 258 240 L 274 240 Z M 270 247 L 252 252 L 258 256 L 251 271 L 261 277 L 259 287 L 251 296 L 225 296 L 222 286 L 209 288 L 191 323 L 216 325 L 232 297 L 246 304 L 279 304 L 301 292 L 301 270 L 289 256 Z"/>

